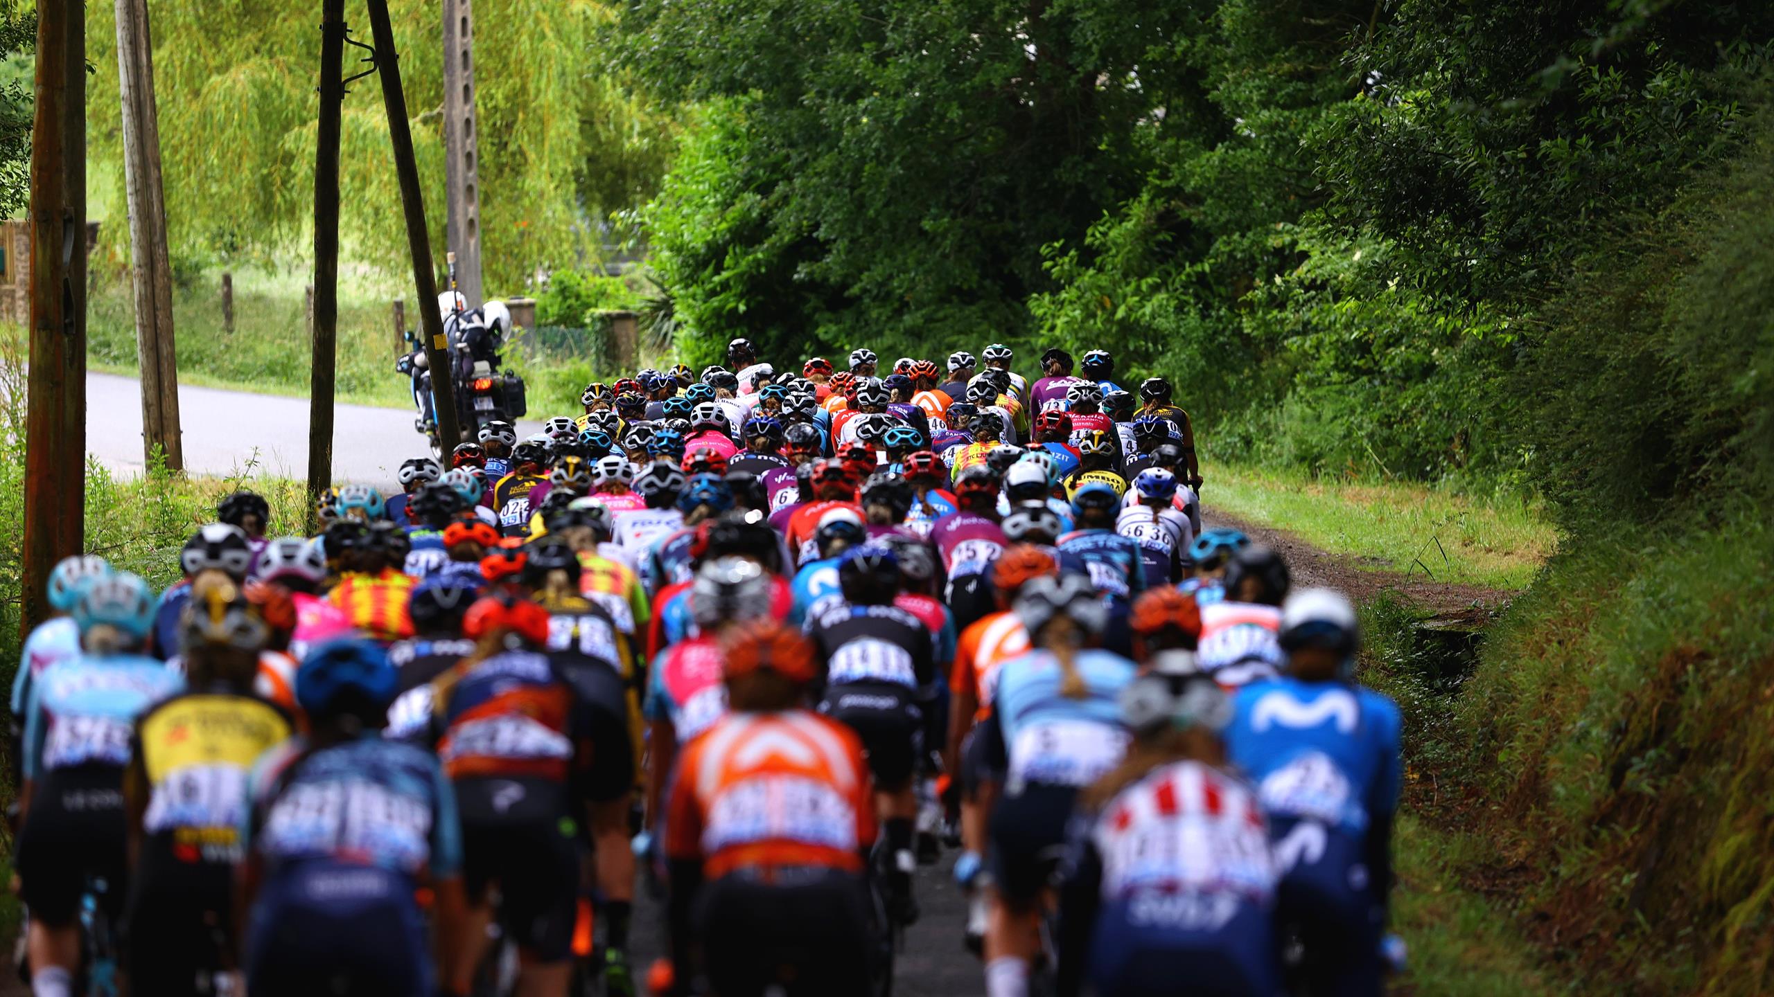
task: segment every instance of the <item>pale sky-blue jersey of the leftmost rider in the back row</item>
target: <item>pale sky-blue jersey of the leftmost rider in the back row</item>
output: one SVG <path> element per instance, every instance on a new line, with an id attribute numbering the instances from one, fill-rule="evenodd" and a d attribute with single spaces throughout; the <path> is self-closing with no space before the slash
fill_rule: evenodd
<path id="1" fill-rule="evenodd" d="M 25 779 L 76 765 L 130 765 L 135 718 L 181 688 L 184 678 L 140 655 L 82 655 L 50 665 L 25 704 Z"/>

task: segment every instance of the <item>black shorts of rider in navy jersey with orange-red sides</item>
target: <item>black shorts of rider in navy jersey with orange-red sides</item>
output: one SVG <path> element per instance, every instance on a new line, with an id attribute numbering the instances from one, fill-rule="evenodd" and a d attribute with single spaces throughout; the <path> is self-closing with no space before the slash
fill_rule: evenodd
<path id="1" fill-rule="evenodd" d="M 463 887 L 470 903 L 486 898 L 498 883 L 498 922 L 506 937 L 530 951 L 539 962 L 561 962 L 573 954 L 573 919 L 578 914 L 578 827 L 557 814 L 538 820 L 497 820 L 488 816 L 488 800 L 497 802 L 504 779 L 481 788 L 458 782 L 461 813 Z M 465 791 L 467 788 L 467 791 Z M 506 789 L 509 791 L 509 789 Z"/>

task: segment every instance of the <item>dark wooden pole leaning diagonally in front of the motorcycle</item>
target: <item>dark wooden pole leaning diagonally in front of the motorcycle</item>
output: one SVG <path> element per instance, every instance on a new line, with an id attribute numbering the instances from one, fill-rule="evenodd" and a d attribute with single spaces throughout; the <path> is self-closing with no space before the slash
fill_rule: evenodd
<path id="1" fill-rule="evenodd" d="M 456 426 L 456 385 L 451 380 L 449 342 L 444 339 L 444 314 L 438 310 L 438 279 L 431 259 L 431 232 L 426 231 L 426 199 L 419 188 L 419 163 L 413 160 L 413 128 L 406 117 L 401 90 L 401 57 L 394 50 L 389 0 L 365 0 L 369 30 L 376 41 L 376 73 L 381 76 L 381 103 L 389 110 L 389 144 L 394 169 L 401 177 L 401 208 L 406 213 L 406 245 L 413 255 L 413 289 L 419 294 L 420 342 L 431 367 L 431 396 L 436 399 L 438 444 L 445 456 L 461 442 Z"/>

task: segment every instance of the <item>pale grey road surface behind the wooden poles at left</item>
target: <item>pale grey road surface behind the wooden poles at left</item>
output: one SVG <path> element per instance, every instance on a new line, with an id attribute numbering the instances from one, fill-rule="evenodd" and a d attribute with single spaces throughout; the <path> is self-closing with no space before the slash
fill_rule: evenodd
<path id="1" fill-rule="evenodd" d="M 305 479 L 309 399 L 179 385 L 184 470 Z M 518 424 L 518 435 L 539 422 Z M 87 452 L 117 475 L 142 474 L 142 385 L 135 378 L 87 374 Z M 408 408 L 334 408 L 334 481 L 389 486 L 406 458 L 424 456 L 426 438 Z"/>

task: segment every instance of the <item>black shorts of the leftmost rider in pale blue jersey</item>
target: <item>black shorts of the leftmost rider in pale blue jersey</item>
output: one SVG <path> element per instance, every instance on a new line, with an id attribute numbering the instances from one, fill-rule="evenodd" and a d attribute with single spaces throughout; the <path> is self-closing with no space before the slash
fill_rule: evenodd
<path id="1" fill-rule="evenodd" d="M 46 773 L 32 789 L 14 867 L 30 915 L 66 928 L 80 914 L 89 878 L 103 878 L 105 910 L 121 917 L 130 885 L 122 770 L 80 765 Z"/>

